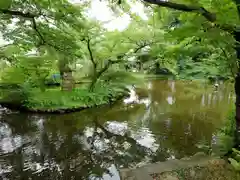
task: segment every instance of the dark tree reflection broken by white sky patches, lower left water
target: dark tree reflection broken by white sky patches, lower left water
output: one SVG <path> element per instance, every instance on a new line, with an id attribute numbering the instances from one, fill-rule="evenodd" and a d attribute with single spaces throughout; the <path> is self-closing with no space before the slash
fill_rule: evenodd
<path id="1" fill-rule="evenodd" d="M 4 122 L 1 125 L 17 129 L 20 123 L 24 126 L 24 121 L 31 122 L 30 119 L 21 121 L 11 125 Z M 90 175 L 101 176 L 108 172 L 111 164 L 118 167 L 135 166 L 136 162 L 151 155 L 150 149 L 138 144 L 127 133 L 120 135 L 110 132 L 98 121 L 94 122 L 93 128 L 69 130 L 63 134 L 57 128 L 48 127 L 47 121 L 43 126 L 39 122 L 35 124 L 38 130 L 33 125 L 35 131 L 18 131 L 18 136 L 22 137 L 20 147 L 1 153 L 2 178 L 89 179 Z M 51 131 L 47 131 L 48 128 Z M 17 135 L 12 133 L 10 136 L 14 139 Z"/>

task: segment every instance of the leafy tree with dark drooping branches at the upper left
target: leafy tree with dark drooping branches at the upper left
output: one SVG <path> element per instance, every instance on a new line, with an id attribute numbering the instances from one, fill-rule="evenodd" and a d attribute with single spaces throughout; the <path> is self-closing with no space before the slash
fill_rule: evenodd
<path id="1" fill-rule="evenodd" d="M 54 54 L 54 58 L 58 54 L 59 71 L 64 80 L 64 71 L 70 72 L 69 63 L 81 57 L 76 51 L 80 49 L 77 40 L 69 31 L 83 29 L 81 9 L 84 7 L 74 6 L 67 0 L 5 1 L 0 6 L 1 33 L 5 40 L 25 51 L 41 47 Z"/>

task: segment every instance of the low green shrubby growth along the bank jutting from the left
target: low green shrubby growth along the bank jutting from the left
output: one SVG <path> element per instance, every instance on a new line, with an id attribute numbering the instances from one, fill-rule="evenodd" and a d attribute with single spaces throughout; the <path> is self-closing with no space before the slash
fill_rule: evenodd
<path id="1" fill-rule="evenodd" d="M 127 95 L 124 87 L 98 84 L 93 91 L 87 88 L 74 88 L 61 91 L 60 87 L 46 89 L 20 86 L 15 89 L 2 89 L 0 104 L 11 109 L 32 112 L 66 113 L 98 105 L 109 104 Z"/>

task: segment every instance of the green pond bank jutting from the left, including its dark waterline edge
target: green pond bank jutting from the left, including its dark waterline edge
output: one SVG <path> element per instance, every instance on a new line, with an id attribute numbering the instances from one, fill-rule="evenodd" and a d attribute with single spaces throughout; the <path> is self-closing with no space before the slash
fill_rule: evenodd
<path id="1" fill-rule="evenodd" d="M 0 100 L 0 105 L 11 110 L 30 113 L 64 114 L 77 112 L 89 108 L 112 104 L 128 95 L 129 91 L 111 91 L 108 93 L 86 93 L 48 91 L 44 93 L 30 93 L 27 100 L 16 102 Z M 11 99 L 11 98 L 10 98 Z"/>

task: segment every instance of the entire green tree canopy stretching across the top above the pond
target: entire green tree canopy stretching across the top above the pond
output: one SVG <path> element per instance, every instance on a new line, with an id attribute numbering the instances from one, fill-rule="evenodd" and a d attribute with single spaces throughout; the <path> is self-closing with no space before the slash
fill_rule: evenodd
<path id="1" fill-rule="evenodd" d="M 159 63 L 183 78 L 231 76 L 236 72 L 234 38 L 229 32 L 238 18 L 237 11 L 232 11 L 235 9 L 232 1 L 182 2 L 187 5 L 144 1 L 148 20 L 129 11 L 136 2 L 118 3 L 109 2 L 114 13 L 128 13 L 131 17 L 130 25 L 123 32 L 108 32 L 100 22 L 88 18 L 85 13 L 90 6 L 88 1 L 78 4 L 43 0 L 2 2 L 2 35 L 10 43 L 1 48 L 2 58 L 14 64 L 14 59 L 19 61 L 16 56 L 28 57 L 26 53 L 34 49 L 39 53 L 37 56 L 50 55 L 59 71 L 81 60 L 84 66 L 93 67 L 88 68 L 91 75 L 99 76 L 110 65 L 126 59 L 128 62 L 129 57 L 143 57 L 141 50 L 146 52 L 147 47 L 148 56 L 144 56 L 147 61 L 137 58 L 143 60 L 146 70 Z"/>

